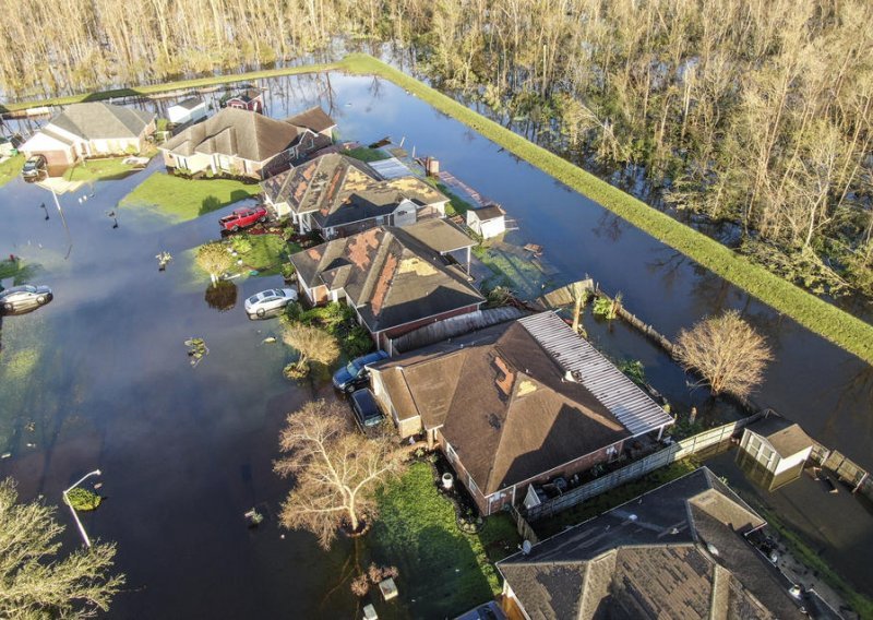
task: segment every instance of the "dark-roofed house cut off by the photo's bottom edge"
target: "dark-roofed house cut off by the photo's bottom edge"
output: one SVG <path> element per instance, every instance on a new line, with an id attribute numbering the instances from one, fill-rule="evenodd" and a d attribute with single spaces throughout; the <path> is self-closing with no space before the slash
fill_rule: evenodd
<path id="1" fill-rule="evenodd" d="M 499 561 L 501 603 L 542 620 L 809 618 L 746 538 L 764 525 L 703 467 Z"/>

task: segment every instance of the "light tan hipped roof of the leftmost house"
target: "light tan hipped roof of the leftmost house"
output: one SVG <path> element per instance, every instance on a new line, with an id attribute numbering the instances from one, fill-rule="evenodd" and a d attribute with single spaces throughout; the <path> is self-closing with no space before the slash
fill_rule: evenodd
<path id="1" fill-rule="evenodd" d="M 139 138 L 155 115 L 103 102 L 72 104 L 49 121 L 49 126 L 83 140 Z"/>

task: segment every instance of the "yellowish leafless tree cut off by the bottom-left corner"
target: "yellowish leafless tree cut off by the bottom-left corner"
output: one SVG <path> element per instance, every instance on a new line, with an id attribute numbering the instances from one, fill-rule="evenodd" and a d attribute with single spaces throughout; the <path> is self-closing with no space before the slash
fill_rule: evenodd
<path id="1" fill-rule="evenodd" d="M 11 478 L 0 481 L 0 617 L 91 618 L 107 611 L 124 584 L 110 575 L 116 546 L 97 542 L 59 558 L 63 526 L 55 508 L 20 503 Z"/>

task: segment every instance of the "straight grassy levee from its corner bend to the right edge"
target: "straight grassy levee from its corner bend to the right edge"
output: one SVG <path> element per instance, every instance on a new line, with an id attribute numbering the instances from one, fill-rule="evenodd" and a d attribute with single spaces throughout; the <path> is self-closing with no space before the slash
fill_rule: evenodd
<path id="1" fill-rule="evenodd" d="M 376 74 L 394 82 L 441 112 L 463 122 L 659 241 L 679 250 L 776 311 L 792 318 L 804 327 L 868 363 L 873 363 L 873 325 L 786 282 L 718 241 L 677 222 L 372 56 L 351 53 L 343 60 L 340 68 L 352 73 Z"/>

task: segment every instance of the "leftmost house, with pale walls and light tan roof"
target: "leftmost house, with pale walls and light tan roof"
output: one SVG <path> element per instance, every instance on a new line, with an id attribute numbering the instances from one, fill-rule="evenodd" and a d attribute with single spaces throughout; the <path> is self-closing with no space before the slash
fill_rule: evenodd
<path id="1" fill-rule="evenodd" d="M 103 102 L 72 104 L 21 145 L 43 155 L 49 170 L 85 157 L 140 153 L 155 132 L 155 115 Z"/>

